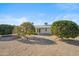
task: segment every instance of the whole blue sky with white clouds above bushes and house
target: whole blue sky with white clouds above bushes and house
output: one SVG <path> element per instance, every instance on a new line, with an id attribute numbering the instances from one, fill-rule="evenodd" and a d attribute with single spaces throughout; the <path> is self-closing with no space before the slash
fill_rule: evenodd
<path id="1" fill-rule="evenodd" d="M 33 22 L 43 25 L 57 20 L 71 20 L 79 24 L 78 3 L 0 3 L 0 24 L 19 25 Z"/>

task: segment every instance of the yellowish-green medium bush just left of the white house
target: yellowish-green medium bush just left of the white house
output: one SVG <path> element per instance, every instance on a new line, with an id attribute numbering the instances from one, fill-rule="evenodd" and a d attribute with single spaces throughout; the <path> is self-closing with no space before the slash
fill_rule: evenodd
<path id="1" fill-rule="evenodd" d="M 13 33 L 18 36 L 35 34 L 35 27 L 30 22 L 24 22 L 20 26 L 15 27 Z"/>

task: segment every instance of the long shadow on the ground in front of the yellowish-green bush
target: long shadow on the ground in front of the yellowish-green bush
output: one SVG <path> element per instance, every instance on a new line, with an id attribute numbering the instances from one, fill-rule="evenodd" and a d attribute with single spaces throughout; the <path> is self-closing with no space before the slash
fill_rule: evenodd
<path id="1" fill-rule="evenodd" d="M 56 44 L 54 41 L 45 39 L 45 38 L 38 38 L 38 37 L 31 37 L 29 40 L 27 39 L 21 39 L 18 40 L 19 42 L 26 43 L 26 44 L 40 44 L 40 45 L 52 45 Z"/>

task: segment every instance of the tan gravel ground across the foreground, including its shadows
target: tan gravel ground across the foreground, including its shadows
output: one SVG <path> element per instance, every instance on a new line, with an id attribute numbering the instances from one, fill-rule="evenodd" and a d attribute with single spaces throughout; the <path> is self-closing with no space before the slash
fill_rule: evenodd
<path id="1" fill-rule="evenodd" d="M 30 40 L 0 38 L 0 56 L 79 56 L 79 41 L 59 41 L 56 36 L 34 36 Z"/>

